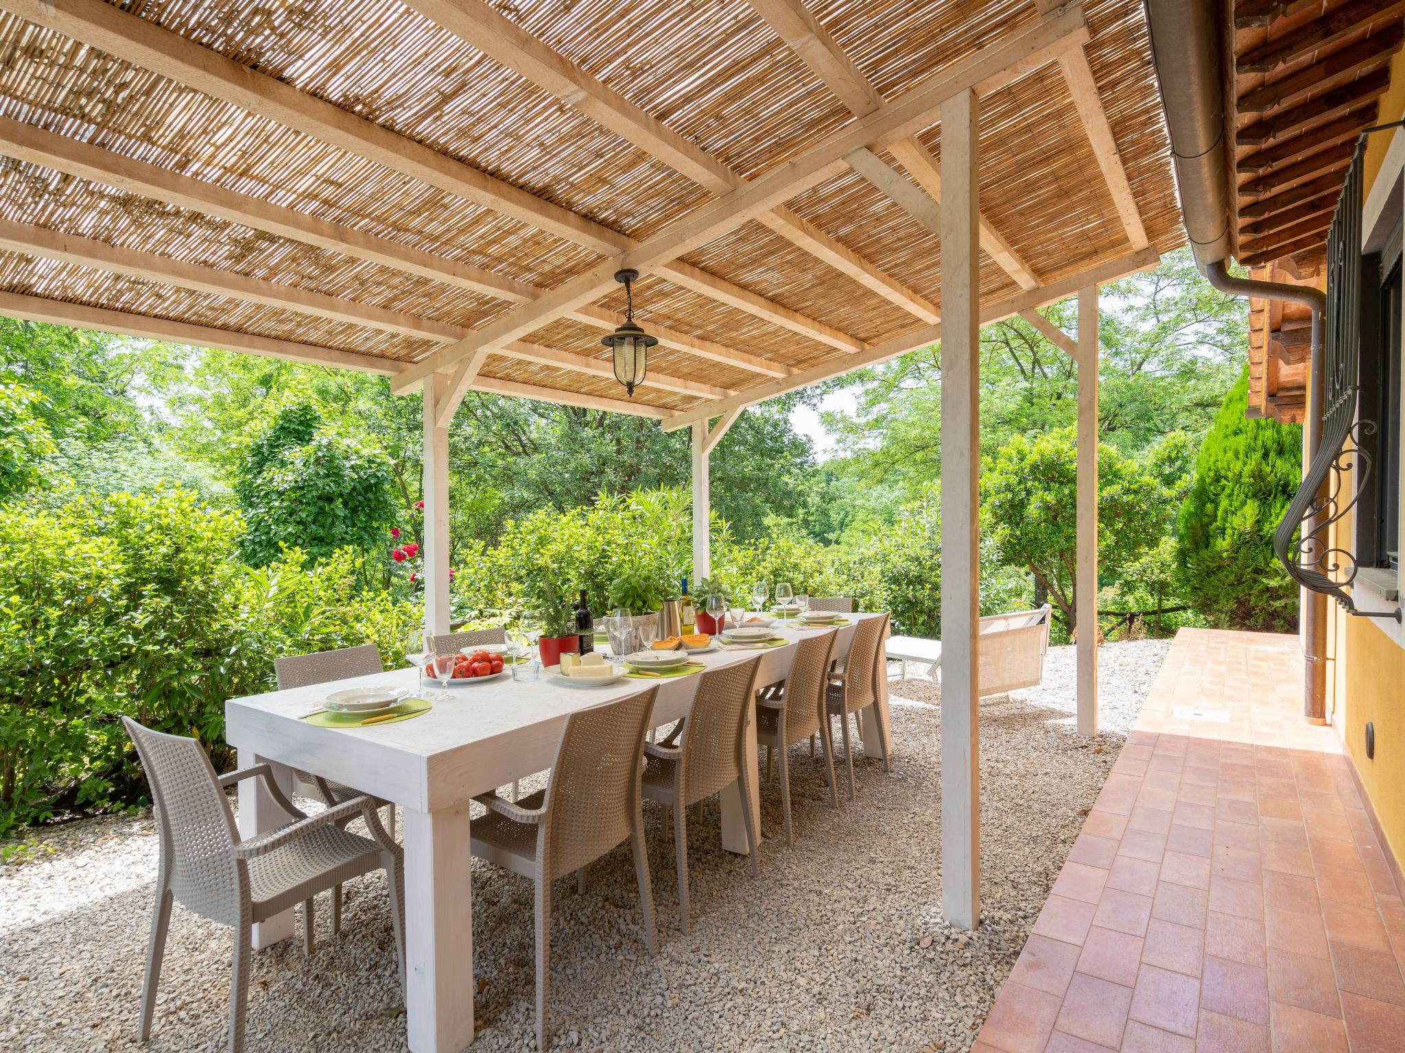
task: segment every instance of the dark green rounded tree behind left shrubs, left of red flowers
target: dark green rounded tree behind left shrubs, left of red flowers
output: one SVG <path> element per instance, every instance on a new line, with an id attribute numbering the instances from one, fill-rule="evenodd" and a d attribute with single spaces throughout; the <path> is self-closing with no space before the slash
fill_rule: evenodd
<path id="1" fill-rule="evenodd" d="M 327 427 L 308 403 L 284 407 L 244 452 L 235 482 L 244 559 L 264 566 L 284 549 L 323 559 L 382 546 L 395 522 L 391 483 L 379 449 Z"/>

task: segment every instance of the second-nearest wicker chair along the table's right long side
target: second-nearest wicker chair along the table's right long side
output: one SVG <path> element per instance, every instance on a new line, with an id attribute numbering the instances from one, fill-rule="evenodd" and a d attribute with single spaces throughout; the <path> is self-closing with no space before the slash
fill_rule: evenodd
<path id="1" fill-rule="evenodd" d="M 679 863 L 679 913 L 688 931 L 688 833 L 687 807 L 704 797 L 742 783 L 742 800 L 752 797 L 746 769 L 746 724 L 760 656 L 735 665 L 707 670 L 698 678 L 697 696 L 687 717 L 667 739 L 643 746 L 643 797 L 663 804 L 673 816 L 673 844 Z M 681 736 L 681 739 L 680 739 Z M 756 875 L 756 831 L 752 810 L 743 804 L 746 848 Z"/>

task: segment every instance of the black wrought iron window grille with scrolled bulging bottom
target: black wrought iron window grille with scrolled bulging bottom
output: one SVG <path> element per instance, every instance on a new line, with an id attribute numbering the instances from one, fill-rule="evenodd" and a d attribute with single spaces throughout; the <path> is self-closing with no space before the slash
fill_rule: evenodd
<path id="1" fill-rule="evenodd" d="M 1273 548 L 1288 576 L 1304 588 L 1332 597 L 1350 614 L 1399 619 L 1399 611 L 1357 609 L 1349 591 L 1360 571 L 1356 553 L 1342 538 L 1336 538 L 1335 543 L 1332 539 L 1332 528 L 1356 507 L 1371 477 L 1371 456 L 1361 439 L 1375 434 L 1375 423 L 1357 416 L 1357 365 L 1361 348 L 1361 157 L 1366 136 L 1392 126 L 1395 125 L 1361 132 L 1328 230 L 1322 437 L 1302 476 L 1302 486 L 1273 535 Z M 1311 404 L 1309 390 L 1308 406 Z"/>

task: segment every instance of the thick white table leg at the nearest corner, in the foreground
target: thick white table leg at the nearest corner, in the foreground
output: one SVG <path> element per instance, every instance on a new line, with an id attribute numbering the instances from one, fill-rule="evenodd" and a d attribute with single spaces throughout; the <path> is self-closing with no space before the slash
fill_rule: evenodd
<path id="1" fill-rule="evenodd" d="M 468 802 L 405 809 L 406 1031 L 413 1053 L 473 1040 L 473 901 Z"/>

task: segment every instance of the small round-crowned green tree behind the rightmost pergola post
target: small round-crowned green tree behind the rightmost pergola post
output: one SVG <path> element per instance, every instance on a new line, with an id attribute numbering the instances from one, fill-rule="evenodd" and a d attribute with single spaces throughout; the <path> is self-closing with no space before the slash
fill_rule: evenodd
<path id="1" fill-rule="evenodd" d="M 1145 463 L 1116 446 L 1097 446 L 1097 555 L 1116 577 L 1165 532 L 1166 486 Z M 1016 435 L 981 476 L 985 529 L 1003 557 L 1028 567 L 1069 628 L 1076 625 L 1073 567 L 1078 555 L 1076 430 L 1035 439 Z"/>

